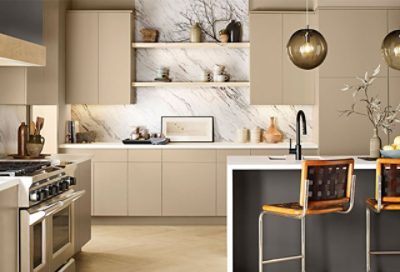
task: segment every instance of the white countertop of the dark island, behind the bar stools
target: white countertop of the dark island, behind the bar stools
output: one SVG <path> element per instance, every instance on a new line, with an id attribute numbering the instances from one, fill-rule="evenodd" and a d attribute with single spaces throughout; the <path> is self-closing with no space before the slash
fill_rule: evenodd
<path id="1" fill-rule="evenodd" d="M 279 157 L 279 156 L 271 156 Z M 354 156 L 305 156 L 305 159 L 348 159 L 354 158 L 356 170 L 376 169 L 375 161 L 366 161 Z M 294 158 L 287 160 L 271 160 L 269 156 L 230 156 L 228 157 L 228 169 L 230 170 L 301 170 L 301 161 Z"/>

